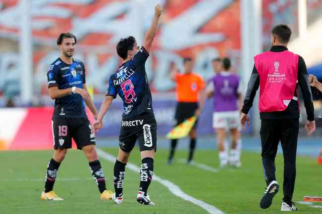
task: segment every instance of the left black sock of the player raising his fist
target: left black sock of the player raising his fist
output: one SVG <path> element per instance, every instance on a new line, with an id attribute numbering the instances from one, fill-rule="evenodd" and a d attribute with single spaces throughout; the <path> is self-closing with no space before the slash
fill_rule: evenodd
<path id="1" fill-rule="evenodd" d="M 116 160 L 114 165 L 114 189 L 115 196 L 121 197 L 123 195 L 123 183 L 125 178 L 125 165 Z"/>

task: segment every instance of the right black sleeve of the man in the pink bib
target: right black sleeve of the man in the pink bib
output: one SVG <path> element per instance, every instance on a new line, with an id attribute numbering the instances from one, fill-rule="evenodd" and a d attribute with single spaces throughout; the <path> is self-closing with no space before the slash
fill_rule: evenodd
<path id="1" fill-rule="evenodd" d="M 309 121 L 314 121 L 314 106 L 311 87 L 309 84 L 308 71 L 304 59 L 299 56 L 298 81 L 302 91 L 304 106 Z"/>

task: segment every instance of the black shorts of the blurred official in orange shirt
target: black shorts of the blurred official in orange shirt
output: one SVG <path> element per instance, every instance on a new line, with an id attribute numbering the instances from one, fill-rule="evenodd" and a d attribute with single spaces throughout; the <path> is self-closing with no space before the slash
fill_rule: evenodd
<path id="1" fill-rule="evenodd" d="M 174 115 L 174 119 L 176 120 L 175 126 L 194 116 L 198 108 L 199 104 L 197 102 L 178 102 Z M 197 128 L 197 124 L 198 120 L 193 126 L 194 129 Z"/>

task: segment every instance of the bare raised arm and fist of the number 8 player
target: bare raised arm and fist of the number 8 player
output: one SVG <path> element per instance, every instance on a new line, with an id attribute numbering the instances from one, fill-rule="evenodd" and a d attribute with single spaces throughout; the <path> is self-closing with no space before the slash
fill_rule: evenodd
<path id="1" fill-rule="evenodd" d="M 153 40 L 156 37 L 157 31 L 158 31 L 159 19 L 160 19 L 161 13 L 163 11 L 162 5 L 158 4 L 156 6 L 155 10 L 156 10 L 156 12 L 153 17 L 152 24 L 151 24 L 149 30 L 147 31 L 147 33 L 145 34 L 145 38 L 144 38 L 144 42 L 143 42 L 143 46 L 148 52 L 150 52 L 150 50 L 151 50 Z"/>

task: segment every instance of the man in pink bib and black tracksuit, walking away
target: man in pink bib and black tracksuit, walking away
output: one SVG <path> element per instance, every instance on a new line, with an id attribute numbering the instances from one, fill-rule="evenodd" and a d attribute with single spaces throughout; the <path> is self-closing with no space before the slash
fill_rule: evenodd
<path id="1" fill-rule="evenodd" d="M 248 82 L 240 123 L 249 125 L 248 112 L 260 86 L 259 110 L 261 116 L 262 161 L 266 191 L 260 206 L 267 209 L 279 190 L 275 178 L 275 156 L 279 141 L 284 156 L 284 198 L 281 211 L 296 211 L 292 202 L 296 175 L 296 148 L 299 132 L 298 87 L 301 88 L 307 113 L 305 129 L 308 134 L 315 130 L 314 107 L 304 59 L 288 51 L 291 37 L 287 25 L 277 25 L 272 31 L 272 47 L 254 57 L 255 65 Z"/>

